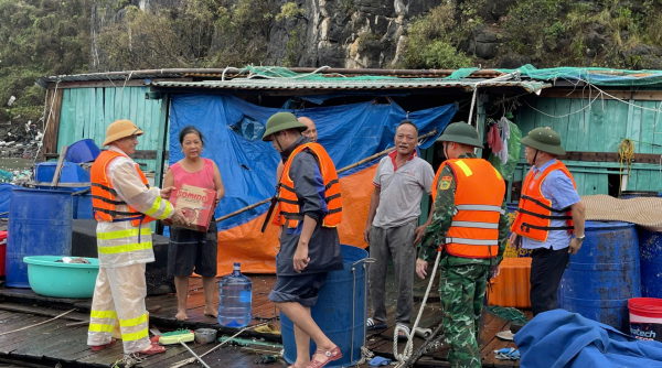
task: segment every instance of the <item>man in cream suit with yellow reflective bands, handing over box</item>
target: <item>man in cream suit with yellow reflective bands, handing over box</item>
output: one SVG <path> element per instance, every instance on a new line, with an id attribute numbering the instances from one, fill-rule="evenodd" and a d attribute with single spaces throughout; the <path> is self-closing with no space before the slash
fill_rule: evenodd
<path id="1" fill-rule="evenodd" d="M 164 353 L 149 339 L 145 309 L 145 263 L 154 261 L 150 221 L 171 219 L 185 224 L 179 209 L 162 199 L 173 187 L 150 187 L 138 164 L 138 129 L 129 120 L 117 120 L 106 131 L 102 152 L 92 165 L 92 205 L 97 224 L 99 274 L 94 288 L 87 345 L 93 351 L 113 346 L 119 320 L 125 354 Z"/>

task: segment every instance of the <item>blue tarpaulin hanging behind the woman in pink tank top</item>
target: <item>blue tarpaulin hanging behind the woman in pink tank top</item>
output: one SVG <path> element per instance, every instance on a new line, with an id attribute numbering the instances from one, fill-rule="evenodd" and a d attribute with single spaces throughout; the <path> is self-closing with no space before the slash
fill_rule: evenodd
<path id="1" fill-rule="evenodd" d="M 421 144 L 423 149 L 430 147 L 456 113 L 457 106 L 451 104 L 407 115 L 393 101 L 284 110 L 259 107 L 226 95 L 174 96 L 170 111 L 170 164 L 183 158 L 179 143 L 181 129 L 188 125 L 196 127 L 205 137 L 202 156 L 216 162 L 226 190 L 216 217 L 274 195 L 280 156 L 270 142 L 261 141 L 260 132 L 269 117 L 278 111 L 311 118 L 318 129 L 318 142 L 327 149 L 337 169 L 341 169 L 393 147 L 395 128 L 406 118 L 416 123 L 419 134 L 438 130 L 436 137 Z M 341 176 L 372 164 L 374 162 Z M 267 207 L 264 205 L 220 223 L 218 229 L 244 224 Z"/>

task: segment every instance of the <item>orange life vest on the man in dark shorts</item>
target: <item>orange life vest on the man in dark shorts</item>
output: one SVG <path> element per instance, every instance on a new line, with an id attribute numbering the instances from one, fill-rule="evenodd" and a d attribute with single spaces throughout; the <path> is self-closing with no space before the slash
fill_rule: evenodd
<path id="1" fill-rule="evenodd" d="M 322 226 L 337 227 L 342 220 L 342 198 L 340 195 L 340 183 L 338 182 L 338 173 L 333 161 L 319 143 L 306 143 L 296 148 L 282 169 L 280 184 L 278 190 L 278 207 L 276 208 L 276 218 L 274 224 L 286 225 L 290 228 L 299 226 L 299 221 L 303 219 L 301 212 L 302 199 L 299 199 L 295 193 L 295 182 L 289 176 L 289 171 L 292 165 L 292 160 L 301 151 L 308 149 L 317 158 L 322 181 L 324 183 L 324 199 L 329 214 L 324 216 Z"/>

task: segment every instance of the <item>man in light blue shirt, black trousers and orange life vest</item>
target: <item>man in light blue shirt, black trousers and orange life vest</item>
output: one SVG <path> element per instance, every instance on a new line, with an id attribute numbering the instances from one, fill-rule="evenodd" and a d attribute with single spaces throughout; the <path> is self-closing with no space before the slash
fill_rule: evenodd
<path id="1" fill-rule="evenodd" d="M 575 180 L 557 155 L 565 154 L 560 137 L 536 128 L 521 140 L 531 171 L 524 178 L 517 216 L 511 227 L 511 246 L 521 242 L 531 252 L 531 309 L 533 315 L 556 309 L 563 272 L 576 255 L 584 235 L 585 206 Z M 573 236 L 574 232 L 574 236 Z"/>

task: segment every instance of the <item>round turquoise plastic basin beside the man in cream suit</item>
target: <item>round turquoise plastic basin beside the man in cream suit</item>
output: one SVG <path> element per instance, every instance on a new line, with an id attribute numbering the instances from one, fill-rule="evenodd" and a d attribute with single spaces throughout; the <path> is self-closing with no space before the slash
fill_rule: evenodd
<path id="1" fill-rule="evenodd" d="M 86 258 L 90 264 L 55 262 L 63 256 L 23 257 L 28 263 L 28 281 L 32 290 L 44 296 L 92 297 L 99 273 L 99 260 Z"/>

